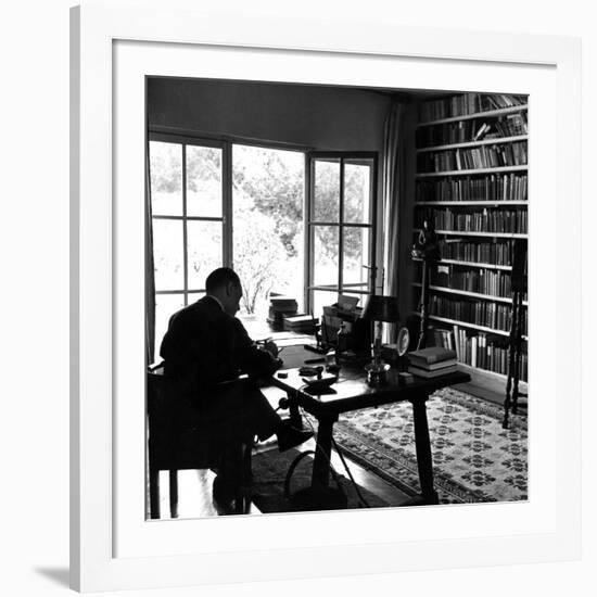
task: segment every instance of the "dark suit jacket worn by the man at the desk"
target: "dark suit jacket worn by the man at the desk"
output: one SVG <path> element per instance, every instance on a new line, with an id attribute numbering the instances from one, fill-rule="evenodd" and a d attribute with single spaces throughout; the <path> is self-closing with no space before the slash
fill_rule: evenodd
<path id="1" fill-rule="evenodd" d="M 277 359 L 257 348 L 240 320 L 211 296 L 170 317 L 160 355 L 166 361 L 165 373 L 199 399 L 213 384 L 241 372 L 268 377 L 278 368 Z"/>

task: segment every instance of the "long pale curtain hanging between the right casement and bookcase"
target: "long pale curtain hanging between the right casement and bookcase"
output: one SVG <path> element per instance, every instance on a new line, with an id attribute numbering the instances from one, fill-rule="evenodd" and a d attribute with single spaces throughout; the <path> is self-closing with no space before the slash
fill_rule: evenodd
<path id="1" fill-rule="evenodd" d="M 407 315 L 406 285 L 404 272 L 408 266 L 404 263 L 405 241 L 402 239 L 401 225 L 405 220 L 407 209 L 407 189 L 405 173 L 407 172 L 407 134 L 405 130 L 406 106 L 403 102 L 394 102 L 385 119 L 383 137 L 383 294 L 398 296 L 401 318 Z M 403 226 L 403 230 L 405 227 Z M 401 244 L 403 245 L 401 249 Z M 403 267 L 401 267 L 401 264 Z M 401 283 L 402 282 L 402 283 Z M 386 342 L 395 342 L 398 327 L 390 325 Z"/>

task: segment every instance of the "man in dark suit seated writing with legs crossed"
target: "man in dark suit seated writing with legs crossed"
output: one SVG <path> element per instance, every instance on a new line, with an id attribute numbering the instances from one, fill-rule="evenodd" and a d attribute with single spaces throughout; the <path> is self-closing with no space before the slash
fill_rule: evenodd
<path id="1" fill-rule="evenodd" d="M 276 434 L 280 452 L 312 437 L 313 433 L 282 421 L 256 385 L 243 386 L 244 391 L 239 391 L 238 384 L 216 388 L 239 373 L 267 378 L 282 361 L 277 358 L 272 342 L 264 350 L 258 348 L 234 317 L 242 288 L 232 269 L 220 267 L 212 271 L 205 280 L 205 290 L 206 296 L 170 317 L 160 348 L 165 374 L 176 388 L 182 419 L 189 425 L 201 417 L 224 421 L 233 435 L 227 436 L 226 442 L 255 435 L 264 441 Z M 226 477 L 225 471 L 218 471 L 214 483 L 214 497 L 218 501 L 226 500 L 233 491 L 234 480 Z"/>

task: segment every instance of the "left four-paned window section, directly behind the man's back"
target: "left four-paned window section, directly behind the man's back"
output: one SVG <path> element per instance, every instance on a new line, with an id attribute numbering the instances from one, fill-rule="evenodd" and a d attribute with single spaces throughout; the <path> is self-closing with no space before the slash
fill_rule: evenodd
<path id="1" fill-rule="evenodd" d="M 170 315 L 224 263 L 223 163 L 221 147 L 150 141 L 157 346 Z"/>

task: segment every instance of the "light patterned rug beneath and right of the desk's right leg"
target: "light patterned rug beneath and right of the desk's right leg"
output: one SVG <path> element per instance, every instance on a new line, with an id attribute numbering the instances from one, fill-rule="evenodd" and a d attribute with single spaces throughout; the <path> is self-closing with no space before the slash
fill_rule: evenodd
<path id="1" fill-rule="evenodd" d="M 501 429 L 503 407 L 452 388 L 428 402 L 434 485 L 441 504 L 528 499 L 526 418 Z M 409 403 L 346 412 L 334 425 L 345 454 L 409 495 L 419 493 Z"/>

